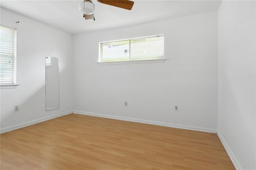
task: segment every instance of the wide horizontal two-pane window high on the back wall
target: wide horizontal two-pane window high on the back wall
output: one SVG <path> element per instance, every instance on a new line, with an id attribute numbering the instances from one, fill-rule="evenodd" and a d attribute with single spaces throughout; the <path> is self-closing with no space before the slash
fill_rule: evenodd
<path id="1" fill-rule="evenodd" d="M 100 63 L 164 59 L 164 35 L 101 42 Z"/>

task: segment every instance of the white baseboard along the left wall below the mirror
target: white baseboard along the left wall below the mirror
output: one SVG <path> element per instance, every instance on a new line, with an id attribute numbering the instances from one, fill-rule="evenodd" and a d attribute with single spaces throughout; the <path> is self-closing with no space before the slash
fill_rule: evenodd
<path id="1" fill-rule="evenodd" d="M 18 128 L 23 128 L 23 127 L 27 127 L 27 126 L 30 126 L 30 125 L 34 125 L 36 123 L 48 121 L 48 120 L 54 119 L 56 117 L 61 117 L 61 116 L 64 116 L 64 115 L 68 115 L 70 113 L 72 113 L 72 111 L 66 111 L 66 112 L 63 112 L 63 113 L 58 113 L 56 115 L 51 115 L 51 116 L 48 116 L 48 117 L 43 117 L 43 118 L 40 118 L 40 119 L 36 119 L 34 121 L 29 121 L 29 122 L 21 123 L 21 124 L 14 125 L 14 126 L 11 126 L 11 127 L 1 128 L 0 129 L 0 134 L 1 133 L 5 133 L 5 132 L 9 132 L 9 131 L 12 131 L 12 130 L 16 130 Z"/>

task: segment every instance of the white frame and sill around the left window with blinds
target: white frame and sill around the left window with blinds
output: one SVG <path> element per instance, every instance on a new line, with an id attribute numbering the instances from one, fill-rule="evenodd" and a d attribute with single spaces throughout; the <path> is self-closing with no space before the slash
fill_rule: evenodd
<path id="1" fill-rule="evenodd" d="M 9 28 L 15 30 L 14 36 L 14 83 L 12 84 L 0 84 L 0 89 L 15 89 L 19 84 L 17 84 L 17 28 L 13 28 L 10 26 L 6 26 L 4 24 L 0 24 L 2 27 Z"/>

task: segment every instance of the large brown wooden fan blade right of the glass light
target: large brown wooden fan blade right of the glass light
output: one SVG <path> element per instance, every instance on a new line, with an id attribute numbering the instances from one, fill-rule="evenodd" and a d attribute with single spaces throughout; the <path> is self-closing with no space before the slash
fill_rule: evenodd
<path id="1" fill-rule="evenodd" d="M 134 2 L 131 0 L 97 0 L 97 1 L 102 4 L 116 6 L 119 8 L 124 8 L 126 10 L 131 10 L 134 4 Z"/>

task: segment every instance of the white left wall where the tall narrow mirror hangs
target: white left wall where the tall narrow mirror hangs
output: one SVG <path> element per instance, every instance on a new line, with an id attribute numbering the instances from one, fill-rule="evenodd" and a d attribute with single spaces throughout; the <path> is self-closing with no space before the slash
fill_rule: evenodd
<path id="1" fill-rule="evenodd" d="M 0 90 L 1 131 L 59 113 L 71 113 L 72 35 L 4 8 L 0 14 L 1 24 L 17 28 L 17 83 L 20 84 L 16 89 Z M 58 57 L 60 61 L 60 109 L 49 112 L 45 111 L 45 55 Z M 20 106 L 19 111 L 14 112 L 14 105 Z"/>

